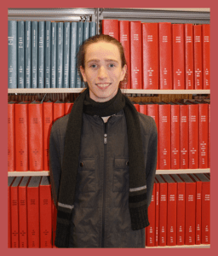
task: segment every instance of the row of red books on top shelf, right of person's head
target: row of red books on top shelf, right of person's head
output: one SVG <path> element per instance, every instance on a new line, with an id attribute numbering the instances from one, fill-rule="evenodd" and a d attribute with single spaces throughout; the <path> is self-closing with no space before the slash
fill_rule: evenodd
<path id="1" fill-rule="evenodd" d="M 210 25 L 102 20 L 102 33 L 123 44 L 127 89 L 209 90 Z"/>

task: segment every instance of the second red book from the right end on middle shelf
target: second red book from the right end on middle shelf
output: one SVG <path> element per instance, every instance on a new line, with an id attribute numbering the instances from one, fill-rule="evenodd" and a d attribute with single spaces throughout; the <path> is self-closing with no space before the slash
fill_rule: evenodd
<path id="1" fill-rule="evenodd" d="M 198 121 L 198 104 L 188 105 L 188 130 L 189 130 L 189 169 L 198 169 L 198 134 L 199 134 L 199 121 Z"/>

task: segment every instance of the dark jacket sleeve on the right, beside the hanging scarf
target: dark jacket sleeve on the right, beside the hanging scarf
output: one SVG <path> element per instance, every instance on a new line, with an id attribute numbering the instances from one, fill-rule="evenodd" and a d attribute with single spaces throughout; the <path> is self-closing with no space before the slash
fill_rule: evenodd
<path id="1" fill-rule="evenodd" d="M 152 189 L 158 160 L 158 129 L 155 120 L 151 117 L 150 137 L 146 156 L 146 195 L 147 206 L 152 201 Z"/>

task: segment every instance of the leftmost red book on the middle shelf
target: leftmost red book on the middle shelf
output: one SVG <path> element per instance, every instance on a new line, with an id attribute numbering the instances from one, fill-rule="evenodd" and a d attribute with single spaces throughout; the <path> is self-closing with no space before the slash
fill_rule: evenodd
<path id="1" fill-rule="evenodd" d="M 14 103 L 8 102 L 8 172 L 15 171 L 14 156 Z"/>

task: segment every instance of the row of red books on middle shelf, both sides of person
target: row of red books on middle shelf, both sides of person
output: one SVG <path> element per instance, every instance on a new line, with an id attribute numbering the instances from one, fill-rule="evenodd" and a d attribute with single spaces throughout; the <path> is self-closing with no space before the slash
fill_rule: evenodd
<path id="1" fill-rule="evenodd" d="M 51 126 L 69 113 L 72 103 L 9 102 L 8 107 L 8 172 L 49 171 Z M 158 170 L 210 167 L 208 102 L 146 102 L 135 108 L 156 122 Z"/>

